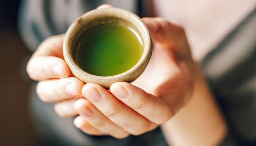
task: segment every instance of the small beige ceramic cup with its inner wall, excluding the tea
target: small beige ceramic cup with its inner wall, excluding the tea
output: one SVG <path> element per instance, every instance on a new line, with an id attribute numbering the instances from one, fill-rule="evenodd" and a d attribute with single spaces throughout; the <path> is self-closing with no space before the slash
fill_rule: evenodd
<path id="1" fill-rule="evenodd" d="M 142 40 L 143 53 L 139 61 L 128 71 L 113 76 L 97 76 L 86 73 L 77 63 L 78 50 L 75 47 L 79 36 L 92 26 L 115 22 L 132 28 Z M 112 83 L 134 81 L 146 68 L 152 55 L 152 39 L 150 32 L 141 19 L 134 13 L 119 8 L 104 8 L 91 10 L 77 19 L 68 29 L 64 43 L 63 55 L 71 72 L 85 83 L 97 83 L 109 88 Z"/>

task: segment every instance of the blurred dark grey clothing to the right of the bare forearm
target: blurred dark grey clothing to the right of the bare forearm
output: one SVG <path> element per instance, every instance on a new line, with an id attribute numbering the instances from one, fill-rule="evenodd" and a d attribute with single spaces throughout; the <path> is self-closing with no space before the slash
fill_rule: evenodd
<path id="1" fill-rule="evenodd" d="M 256 146 L 256 9 L 202 61 L 229 132 L 220 146 Z"/>

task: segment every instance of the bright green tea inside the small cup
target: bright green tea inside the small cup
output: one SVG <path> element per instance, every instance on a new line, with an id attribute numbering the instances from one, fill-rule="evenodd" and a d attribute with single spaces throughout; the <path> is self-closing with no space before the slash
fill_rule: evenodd
<path id="1" fill-rule="evenodd" d="M 99 24 L 78 38 L 78 64 L 87 73 L 112 76 L 131 69 L 142 56 L 142 41 L 131 28 Z"/>

